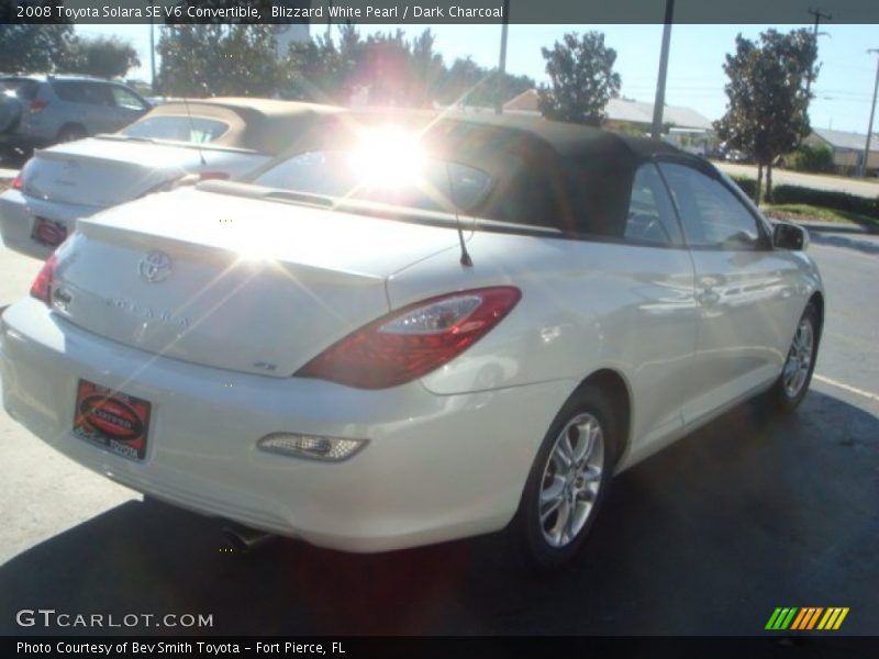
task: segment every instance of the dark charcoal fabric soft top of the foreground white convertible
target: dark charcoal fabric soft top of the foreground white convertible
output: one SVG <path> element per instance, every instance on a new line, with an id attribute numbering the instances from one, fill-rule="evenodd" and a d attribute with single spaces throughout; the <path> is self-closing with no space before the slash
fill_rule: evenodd
<path id="1" fill-rule="evenodd" d="M 344 147 L 370 125 L 402 124 L 422 134 L 430 153 L 491 177 L 490 192 L 469 213 L 576 234 L 622 236 L 632 181 L 646 160 L 699 160 L 659 141 L 516 114 L 367 110 L 327 121 L 288 157 Z"/>

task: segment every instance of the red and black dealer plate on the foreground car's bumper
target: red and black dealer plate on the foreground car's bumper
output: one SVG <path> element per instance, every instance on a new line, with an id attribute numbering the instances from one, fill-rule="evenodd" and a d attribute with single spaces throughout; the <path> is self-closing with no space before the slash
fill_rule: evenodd
<path id="1" fill-rule="evenodd" d="M 74 434 L 132 460 L 146 456 L 149 402 L 80 380 Z"/>

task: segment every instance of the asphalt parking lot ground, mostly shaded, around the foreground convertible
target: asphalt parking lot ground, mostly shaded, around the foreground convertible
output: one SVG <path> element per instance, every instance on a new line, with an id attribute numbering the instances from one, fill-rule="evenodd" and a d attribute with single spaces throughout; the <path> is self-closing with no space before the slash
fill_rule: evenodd
<path id="1" fill-rule="evenodd" d="M 827 320 L 803 405 L 742 405 L 617 478 L 585 550 L 552 574 L 523 571 L 500 536 L 230 554 L 215 521 L 142 501 L 0 412 L 0 634 L 114 632 L 15 623 L 55 608 L 213 616 L 163 634 L 753 635 L 777 606 L 846 606 L 835 634 L 877 634 L 879 236 L 811 249 Z M 0 306 L 38 266 L 0 247 Z"/>

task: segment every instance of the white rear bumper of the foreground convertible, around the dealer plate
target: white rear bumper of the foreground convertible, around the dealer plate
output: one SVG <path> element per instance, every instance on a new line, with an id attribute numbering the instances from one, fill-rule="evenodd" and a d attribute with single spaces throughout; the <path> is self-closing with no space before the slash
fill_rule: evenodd
<path id="1" fill-rule="evenodd" d="M 574 387 L 435 395 L 418 382 L 365 391 L 222 371 L 102 339 L 30 299 L 7 310 L 0 342 L 4 407 L 71 459 L 182 507 L 349 551 L 505 526 Z M 152 403 L 142 462 L 73 435 L 80 378 Z M 368 444 L 323 463 L 256 448 L 275 432 Z"/>

